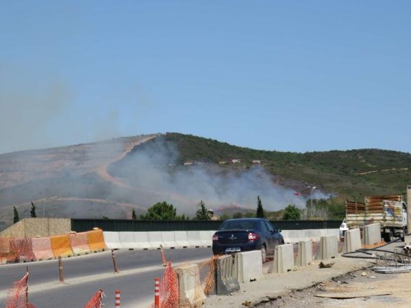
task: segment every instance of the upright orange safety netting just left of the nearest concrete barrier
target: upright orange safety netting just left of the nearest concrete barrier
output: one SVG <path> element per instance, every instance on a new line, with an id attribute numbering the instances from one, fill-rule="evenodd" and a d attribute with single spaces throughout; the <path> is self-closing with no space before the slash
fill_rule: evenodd
<path id="1" fill-rule="evenodd" d="M 179 304 L 179 287 L 177 274 L 170 262 L 166 263 L 166 270 L 160 280 L 160 308 L 177 308 Z M 154 304 L 151 305 L 154 307 Z"/>

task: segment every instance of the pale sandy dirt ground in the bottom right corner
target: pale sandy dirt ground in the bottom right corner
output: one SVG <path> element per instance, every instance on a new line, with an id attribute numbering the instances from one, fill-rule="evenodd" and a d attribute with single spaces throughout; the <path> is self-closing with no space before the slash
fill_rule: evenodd
<path id="1" fill-rule="evenodd" d="M 363 277 L 362 273 L 366 276 Z M 369 296 L 351 299 L 316 297 L 329 292 L 344 294 L 349 292 L 387 292 L 391 295 Z M 257 307 L 411 307 L 411 273 L 378 274 L 371 270 L 360 270 L 342 277 L 319 283 L 306 290 L 294 291 L 269 303 Z"/>

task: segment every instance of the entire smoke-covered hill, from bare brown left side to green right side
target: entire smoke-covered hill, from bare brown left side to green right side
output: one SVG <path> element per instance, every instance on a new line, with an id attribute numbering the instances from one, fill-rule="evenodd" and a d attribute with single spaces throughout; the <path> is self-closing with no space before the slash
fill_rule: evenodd
<path id="1" fill-rule="evenodd" d="M 219 164 L 234 158 L 242 163 Z M 409 179 L 411 155 L 396 151 L 259 151 L 180 133 L 116 138 L 0 155 L 0 229 L 13 206 L 29 216 L 31 201 L 38 216 L 125 218 L 164 200 L 189 214 L 200 199 L 214 209 L 249 209 L 260 194 L 278 211 L 303 206 L 312 185 L 342 203 L 403 194 Z"/>

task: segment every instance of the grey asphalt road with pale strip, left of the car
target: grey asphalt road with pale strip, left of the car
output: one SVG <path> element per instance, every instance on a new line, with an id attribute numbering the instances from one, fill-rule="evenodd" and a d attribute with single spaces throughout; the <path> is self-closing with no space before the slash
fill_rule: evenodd
<path id="1" fill-rule="evenodd" d="M 36 307 L 84 307 L 103 289 L 105 307 L 114 307 L 114 291 L 121 290 L 121 307 L 148 307 L 154 296 L 154 278 L 161 277 L 160 251 L 116 251 L 120 274 L 114 274 L 111 252 L 63 259 L 65 283 L 58 282 L 58 261 L 0 266 L 0 303 L 5 303 L 12 281 L 29 266 L 29 300 Z M 198 262 L 212 256 L 211 248 L 166 249 L 172 264 Z"/>

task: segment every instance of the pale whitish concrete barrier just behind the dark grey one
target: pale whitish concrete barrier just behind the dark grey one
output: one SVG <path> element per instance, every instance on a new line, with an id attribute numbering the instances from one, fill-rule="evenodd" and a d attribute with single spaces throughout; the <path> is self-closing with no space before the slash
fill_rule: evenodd
<path id="1" fill-rule="evenodd" d="M 234 258 L 239 283 L 249 283 L 262 278 L 261 251 L 236 253 Z"/>

